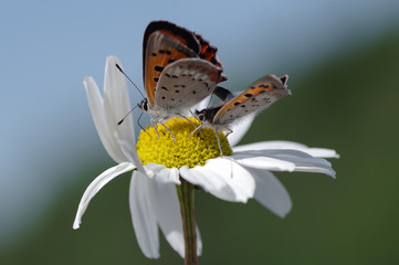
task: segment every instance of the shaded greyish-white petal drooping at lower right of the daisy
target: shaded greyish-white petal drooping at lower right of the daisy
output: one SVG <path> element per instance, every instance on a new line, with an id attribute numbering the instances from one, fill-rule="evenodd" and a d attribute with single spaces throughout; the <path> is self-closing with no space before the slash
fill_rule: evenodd
<path id="1" fill-rule="evenodd" d="M 284 218 L 292 208 L 290 194 L 284 186 L 267 170 L 248 170 L 256 182 L 254 198 L 273 213 Z"/>

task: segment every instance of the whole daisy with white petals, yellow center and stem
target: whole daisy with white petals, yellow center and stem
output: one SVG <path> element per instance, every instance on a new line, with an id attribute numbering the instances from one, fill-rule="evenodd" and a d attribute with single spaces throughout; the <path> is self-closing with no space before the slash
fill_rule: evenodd
<path id="1" fill-rule="evenodd" d="M 232 127 L 233 132 L 228 139 L 219 134 L 223 157 L 220 157 L 212 129 L 201 129 L 190 136 L 193 126 L 181 118 L 166 123 L 176 141 L 166 128 L 158 126 L 157 129 L 147 127 L 136 144 L 132 116 L 117 126 L 130 110 L 130 104 L 125 77 L 115 64 L 122 65 L 115 56 L 107 59 L 103 97 L 92 77 L 86 77 L 84 85 L 99 138 L 117 166 L 104 171 L 87 187 L 74 229 L 80 227 L 82 215 L 94 195 L 117 176 L 133 170 L 129 206 L 143 253 L 147 257 L 159 257 L 159 226 L 171 247 L 186 256 L 186 264 L 189 264 L 188 248 L 197 250 L 193 254 L 191 251 L 192 259 L 201 253 L 201 239 L 193 218 L 195 186 L 231 202 L 244 203 L 253 198 L 283 218 L 290 212 L 292 202 L 271 171 L 318 172 L 335 178 L 332 165 L 323 159 L 338 157 L 330 149 L 308 148 L 292 141 L 234 147 L 254 116 Z M 200 125 L 197 119 L 189 119 Z"/>

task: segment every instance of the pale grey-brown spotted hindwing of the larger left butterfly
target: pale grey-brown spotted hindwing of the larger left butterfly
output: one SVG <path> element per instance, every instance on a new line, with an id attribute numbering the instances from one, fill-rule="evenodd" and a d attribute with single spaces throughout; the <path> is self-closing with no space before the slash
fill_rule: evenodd
<path id="1" fill-rule="evenodd" d="M 209 96 L 222 70 L 201 59 L 182 59 L 167 65 L 155 95 L 158 107 L 181 113 Z"/>

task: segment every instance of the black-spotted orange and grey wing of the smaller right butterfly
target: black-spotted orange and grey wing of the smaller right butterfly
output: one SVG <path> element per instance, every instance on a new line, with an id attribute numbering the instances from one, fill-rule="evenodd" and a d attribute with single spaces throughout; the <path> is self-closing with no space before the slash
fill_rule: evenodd
<path id="1" fill-rule="evenodd" d="M 228 125 L 251 113 L 260 112 L 279 98 L 291 95 L 286 87 L 287 75 L 276 77 L 266 75 L 232 98 L 214 115 L 212 123 L 216 125 Z"/>

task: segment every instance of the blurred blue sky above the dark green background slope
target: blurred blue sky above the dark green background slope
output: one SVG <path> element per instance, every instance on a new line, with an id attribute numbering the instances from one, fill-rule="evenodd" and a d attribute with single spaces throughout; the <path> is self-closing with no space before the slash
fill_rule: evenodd
<path id="1" fill-rule="evenodd" d="M 398 13 L 397 0 L 2 1 L 0 252 L 33 233 L 62 189 L 81 178 L 75 168 L 108 159 L 82 82 L 92 75 L 102 86 L 105 59 L 117 55 L 143 86 L 141 41 L 151 20 L 210 40 L 225 86 L 240 89 L 267 73 L 295 78 L 342 51 L 361 51 L 398 29 Z"/>

